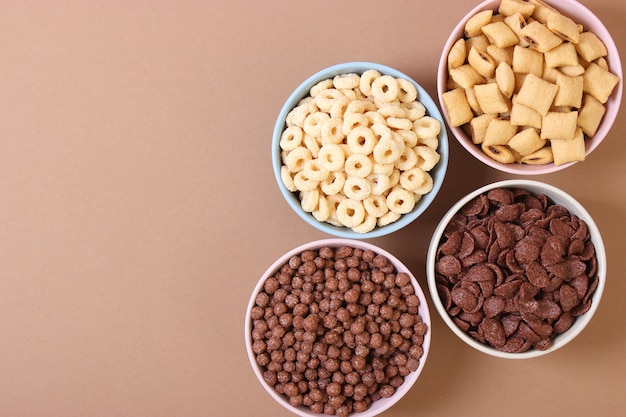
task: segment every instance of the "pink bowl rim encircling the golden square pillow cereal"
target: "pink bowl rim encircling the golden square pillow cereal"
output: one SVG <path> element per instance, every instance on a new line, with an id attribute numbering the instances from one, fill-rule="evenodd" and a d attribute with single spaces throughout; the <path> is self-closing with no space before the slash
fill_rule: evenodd
<path id="1" fill-rule="evenodd" d="M 558 11 L 560 11 L 563 15 L 570 17 L 576 23 L 580 23 L 584 26 L 585 30 L 590 30 L 594 32 L 606 45 L 608 56 L 606 57 L 606 62 L 608 63 L 609 70 L 613 74 L 617 75 L 620 78 L 617 86 L 613 89 L 612 94 L 610 95 L 608 101 L 605 103 L 605 114 L 602 118 L 598 129 L 592 137 L 586 137 L 585 135 L 585 156 L 588 156 L 594 149 L 600 145 L 600 143 L 605 139 L 607 134 L 609 133 L 615 118 L 617 117 L 621 100 L 622 100 L 622 90 L 623 90 L 623 74 L 622 74 L 622 64 L 620 60 L 620 55 L 615 45 L 611 34 L 606 29 L 602 21 L 587 7 L 585 7 L 582 3 L 579 3 L 576 0 L 545 0 L 545 3 L 552 5 Z M 464 27 L 468 20 L 475 16 L 477 13 L 484 10 L 497 10 L 500 5 L 500 0 L 486 0 L 479 3 L 475 6 L 469 13 L 461 19 L 461 21 L 454 27 L 452 33 L 450 34 L 448 40 L 445 43 L 443 48 L 439 66 L 438 66 L 438 74 L 437 74 L 437 94 L 439 98 L 439 102 L 442 108 L 442 113 L 446 122 L 448 123 L 450 132 L 457 138 L 459 143 L 476 159 L 483 162 L 484 164 L 497 169 L 502 172 L 507 172 L 511 174 L 517 175 L 539 175 L 539 174 L 548 174 L 556 171 L 560 171 L 567 167 L 572 166 L 577 163 L 576 161 L 563 163 L 559 165 L 555 165 L 553 162 L 548 164 L 541 165 L 532 165 L 532 164 L 522 164 L 522 163 L 501 163 L 497 162 L 491 157 L 487 156 L 480 148 L 480 146 L 475 145 L 472 141 L 472 138 L 469 136 L 468 132 L 463 129 L 462 126 L 452 126 L 450 123 L 450 115 L 446 111 L 445 106 L 443 105 L 442 95 L 447 90 L 448 83 L 448 54 L 452 49 L 454 43 L 463 37 Z"/>

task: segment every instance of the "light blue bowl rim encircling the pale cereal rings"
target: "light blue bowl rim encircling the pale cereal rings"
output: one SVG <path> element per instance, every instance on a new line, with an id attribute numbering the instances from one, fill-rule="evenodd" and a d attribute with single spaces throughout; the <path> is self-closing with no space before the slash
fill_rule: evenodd
<path id="1" fill-rule="evenodd" d="M 425 107 L 426 115 L 433 117 L 434 119 L 439 121 L 441 125 L 440 132 L 436 136 L 438 139 L 438 146 L 436 148 L 436 151 L 439 154 L 439 161 L 429 171 L 429 174 L 432 177 L 432 189 L 430 190 L 430 192 L 423 195 L 419 201 L 416 202 L 415 206 L 412 208 L 412 210 L 410 210 L 410 212 L 402 214 L 400 219 L 392 223 L 384 225 L 381 223 L 381 225 L 378 225 L 367 232 L 355 232 L 352 228 L 338 224 L 336 221 L 332 222 L 334 224 L 331 224 L 327 221 L 318 221 L 311 212 L 305 211 L 303 209 L 300 201 L 300 193 L 298 191 L 293 192 L 287 189 L 281 178 L 281 167 L 283 166 L 283 161 L 281 158 L 280 141 L 283 131 L 287 127 L 287 118 L 289 112 L 298 105 L 300 100 L 310 95 L 311 87 L 315 86 L 317 83 L 323 80 L 332 79 L 337 75 L 351 73 L 363 74 L 367 70 L 376 70 L 379 71 L 382 75 L 389 75 L 395 78 L 403 78 L 408 80 L 411 84 L 415 86 L 415 88 L 417 89 L 417 100 L 419 100 L 419 102 L 421 102 Z M 296 212 L 296 214 L 300 216 L 304 221 L 306 221 L 306 223 L 322 232 L 325 232 L 335 237 L 369 239 L 384 236 L 402 229 L 403 227 L 407 226 L 415 219 L 417 219 L 433 202 L 435 196 L 441 188 L 448 165 L 448 136 L 445 124 L 443 122 L 443 118 L 441 117 L 435 101 L 429 96 L 424 88 L 422 88 L 408 75 L 396 69 L 377 63 L 348 62 L 325 68 L 311 75 L 304 82 L 302 82 L 287 98 L 282 109 L 280 110 L 274 127 L 272 140 L 272 165 L 274 170 L 274 176 L 281 194 L 283 195 L 289 206 L 293 209 L 293 211 Z"/>

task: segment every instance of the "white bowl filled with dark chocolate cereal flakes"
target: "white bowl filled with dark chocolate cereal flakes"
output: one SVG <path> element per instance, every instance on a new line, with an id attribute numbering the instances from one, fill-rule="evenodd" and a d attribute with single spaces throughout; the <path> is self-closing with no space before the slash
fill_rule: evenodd
<path id="1" fill-rule="evenodd" d="M 590 256 L 591 252 L 585 252 L 585 255 L 582 256 L 581 252 L 573 250 L 575 246 L 571 246 L 572 256 L 563 255 L 561 252 L 553 250 L 554 248 L 562 249 L 564 246 L 554 245 L 561 238 L 549 238 L 549 234 L 545 233 L 546 225 L 544 223 L 549 226 L 550 230 L 554 231 L 555 236 L 566 235 L 565 230 L 567 228 L 559 228 L 563 222 L 557 222 L 556 220 L 554 224 L 547 221 L 542 223 L 540 220 L 535 222 L 536 219 L 546 218 L 545 213 L 542 216 L 538 215 L 540 211 L 543 213 L 543 209 L 538 209 L 537 206 L 537 201 L 541 200 L 534 198 L 524 200 L 525 204 L 527 204 L 525 207 L 534 207 L 537 211 L 529 211 L 523 217 L 517 217 L 517 219 L 523 219 L 523 221 L 512 220 L 520 212 L 511 212 L 509 210 L 513 205 L 510 205 L 509 197 L 502 197 L 501 189 L 524 190 L 519 197 L 515 198 L 515 202 L 527 198 L 521 194 L 530 193 L 535 196 L 543 194 L 547 197 L 546 202 L 549 205 L 554 207 L 562 206 L 569 211 L 573 219 L 582 220 L 586 228 L 576 220 L 576 223 L 571 224 L 576 225 L 576 227 L 572 228 L 580 230 L 579 233 L 570 235 L 572 239 L 568 240 L 565 238 L 564 241 L 570 242 L 573 238 L 582 239 L 584 236 L 588 236 L 590 242 L 595 247 L 596 262 L 593 261 L 593 256 Z M 489 198 L 479 197 L 485 195 L 489 195 Z M 483 220 L 477 221 L 466 217 L 466 215 L 475 215 L 475 213 L 481 210 L 481 207 L 485 207 L 481 205 L 482 203 L 475 204 L 480 199 L 483 199 L 483 202 L 486 200 L 494 202 L 494 208 L 490 213 L 493 213 L 496 207 L 500 205 L 500 203 L 497 203 L 498 201 L 501 202 L 502 206 L 507 206 L 499 209 L 498 217 L 492 216 L 493 228 L 491 230 L 493 232 L 488 232 L 488 229 L 484 228 L 483 225 L 485 223 L 483 223 Z M 545 202 L 542 204 L 545 206 Z M 463 211 L 461 212 L 461 210 Z M 485 212 L 482 211 L 481 213 L 481 216 L 483 216 Z M 564 214 L 563 211 L 557 211 L 556 208 L 551 209 L 551 213 L 553 213 L 552 215 L 555 218 L 561 219 L 561 216 Z M 510 222 L 523 223 L 525 225 L 522 228 L 523 230 L 530 230 L 531 227 L 529 226 L 534 224 L 534 228 L 542 230 L 522 232 L 517 226 L 507 226 L 508 230 L 514 231 L 514 235 L 516 235 L 515 239 L 512 239 L 511 235 L 507 235 L 507 229 L 496 224 L 498 222 L 505 224 L 510 224 Z M 477 227 L 479 223 L 481 225 Z M 465 227 L 464 224 L 469 226 Z M 467 236 L 463 235 L 462 243 L 460 246 L 457 246 L 459 245 L 460 235 L 454 233 L 454 230 L 468 232 L 468 229 L 471 232 Z M 455 236 L 452 236 L 453 234 Z M 496 245 L 492 243 L 485 245 L 487 242 L 485 237 L 490 234 L 495 239 L 495 242 L 498 243 L 498 246 L 495 248 L 493 247 Z M 528 236 L 529 234 L 532 234 L 532 236 Z M 510 241 L 507 241 L 507 236 L 509 236 L 508 239 L 511 239 Z M 535 237 L 539 236 L 542 236 L 542 238 L 534 240 Z M 467 241 L 465 240 L 466 238 Z M 502 240 L 500 240 L 501 238 Z M 547 243 L 541 246 L 541 251 L 538 252 L 538 248 L 544 241 Z M 552 247 L 553 245 L 554 248 Z M 481 249 L 483 247 L 487 249 Z M 590 247 L 589 243 L 585 244 L 586 249 L 590 249 Z M 489 248 L 493 249 L 493 253 L 491 253 L 492 249 Z M 510 248 L 510 250 L 501 250 L 502 248 Z M 481 254 L 481 250 L 485 254 L 489 253 L 489 255 Z M 538 253 L 540 253 L 539 257 L 537 256 Z M 509 258 L 509 254 L 511 254 L 511 258 Z M 578 258 L 573 257 L 573 255 L 578 256 Z M 454 259 L 448 256 L 460 260 L 459 263 L 462 262 L 462 272 L 459 272 L 459 267 Z M 571 262 L 566 262 L 562 265 L 566 267 L 567 265 L 573 266 L 571 270 L 561 270 L 558 269 L 560 266 L 555 266 L 567 259 L 570 259 Z M 585 259 L 583 261 L 584 266 L 577 263 L 577 259 Z M 494 265 L 499 265 L 499 267 L 494 268 Z M 542 275 L 537 265 L 544 267 L 546 273 Z M 485 267 L 493 271 L 494 275 L 490 275 L 491 273 Z M 458 273 L 456 278 L 454 278 L 455 273 Z M 584 274 L 587 274 L 587 278 L 582 276 Z M 571 275 L 576 275 L 576 278 L 572 278 Z M 495 285 L 491 286 L 491 284 L 494 284 L 494 279 Z M 549 282 L 547 281 L 548 279 Z M 485 185 L 467 194 L 443 216 L 435 229 L 428 249 L 427 280 L 435 308 L 448 327 L 463 342 L 480 352 L 500 358 L 533 358 L 554 352 L 567 345 L 589 324 L 598 308 L 605 285 L 606 252 L 600 231 L 591 215 L 569 194 L 552 185 L 538 181 L 523 179 L 499 181 Z M 455 280 L 458 283 L 455 284 Z M 473 283 L 467 284 L 466 280 L 473 281 Z M 481 280 L 484 280 L 485 284 Z M 489 280 L 491 284 L 489 284 Z M 515 283 L 511 284 L 513 281 Z M 524 283 L 524 281 L 527 281 L 527 283 Z M 481 291 L 476 291 L 474 285 L 476 283 L 478 283 Z M 569 288 L 565 289 L 563 283 L 568 284 Z M 594 287 L 595 291 L 593 291 Z M 450 290 L 450 288 L 453 290 Z M 573 294 L 570 292 L 572 288 L 576 289 L 575 294 L 579 290 L 581 291 L 580 295 L 576 295 L 576 298 L 572 298 Z M 477 305 L 472 305 L 474 299 L 472 296 L 468 296 L 469 293 L 465 292 L 466 290 L 471 291 L 476 296 Z M 558 292 L 559 298 L 554 297 L 557 294 L 555 291 Z M 492 296 L 494 296 L 494 299 L 489 299 Z M 495 296 L 504 300 L 508 298 L 509 300 L 502 304 L 502 301 L 496 300 Z M 579 304 L 574 306 L 577 299 Z M 555 303 L 558 305 L 557 307 L 555 307 Z M 568 315 L 565 315 L 565 312 Z M 459 320 L 462 313 L 468 314 L 463 315 L 462 320 Z M 472 317 L 472 313 L 477 315 Z M 502 348 L 506 344 L 502 345 L 502 334 L 497 329 L 498 325 L 494 324 L 492 319 L 485 321 L 483 324 L 481 315 L 483 316 L 482 319 L 490 317 L 502 325 L 502 328 L 505 329 L 505 337 L 507 337 L 506 343 L 509 343 L 508 337 L 512 335 L 526 340 L 526 342 L 520 343 L 519 339 L 515 339 L 511 340 L 508 347 Z M 509 317 L 502 320 L 505 316 Z M 522 319 L 521 321 L 519 321 L 520 318 Z M 561 318 L 563 321 L 557 324 Z M 575 319 L 573 323 L 572 318 Z M 469 326 L 468 323 L 470 323 Z M 516 323 L 518 327 L 515 327 Z M 526 323 L 526 325 L 520 326 L 520 323 Z M 477 333 L 477 331 L 481 324 L 483 326 L 482 335 L 476 337 L 480 333 Z M 553 326 L 552 329 L 555 332 L 558 330 L 561 333 L 556 334 L 556 336 L 547 336 L 550 334 L 550 329 L 541 327 L 545 324 Z M 567 324 L 570 325 L 569 328 Z M 537 340 L 537 337 L 530 333 L 527 327 L 531 327 L 533 332 L 540 336 L 541 340 Z M 493 333 L 491 333 L 492 331 Z M 498 334 L 498 332 L 500 333 Z M 485 335 L 487 334 L 490 334 L 490 337 L 485 340 Z M 550 339 L 550 337 L 551 342 L 546 343 L 546 340 Z M 495 344 L 493 343 L 494 341 Z M 496 346 L 500 346 L 500 348 L 496 348 Z M 528 349 L 522 351 L 521 346 Z"/>

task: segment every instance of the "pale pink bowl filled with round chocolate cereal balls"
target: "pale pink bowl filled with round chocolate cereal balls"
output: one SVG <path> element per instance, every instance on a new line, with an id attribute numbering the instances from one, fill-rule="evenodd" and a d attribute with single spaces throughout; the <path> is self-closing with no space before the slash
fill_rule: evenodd
<path id="1" fill-rule="evenodd" d="M 281 406 L 305 417 L 387 410 L 417 381 L 430 340 L 415 277 L 360 240 L 318 240 L 285 253 L 261 276 L 246 311 L 255 375 Z"/>

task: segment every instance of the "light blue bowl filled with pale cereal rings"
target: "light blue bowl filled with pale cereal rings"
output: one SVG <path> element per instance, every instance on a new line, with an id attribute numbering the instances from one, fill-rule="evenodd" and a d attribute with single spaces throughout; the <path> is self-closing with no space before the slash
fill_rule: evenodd
<path id="1" fill-rule="evenodd" d="M 380 80 L 372 81 L 374 74 Z M 351 77 L 370 91 L 334 87 L 343 86 L 335 79 L 350 85 Z M 383 84 L 390 79 L 399 87 Z M 394 89 L 403 94 L 397 106 L 384 101 Z M 335 237 L 368 239 L 407 226 L 435 199 L 447 164 L 447 132 L 434 100 L 406 74 L 376 63 L 343 63 L 310 76 L 284 103 L 273 132 L 281 194 L 309 225 Z"/>

